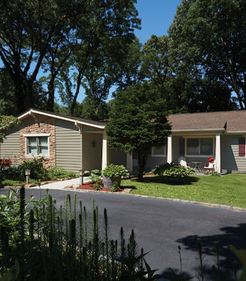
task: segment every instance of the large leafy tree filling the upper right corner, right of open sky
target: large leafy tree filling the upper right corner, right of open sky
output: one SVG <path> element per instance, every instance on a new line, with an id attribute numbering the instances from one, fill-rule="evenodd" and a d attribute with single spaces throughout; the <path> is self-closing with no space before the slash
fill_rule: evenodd
<path id="1" fill-rule="evenodd" d="M 183 0 L 169 28 L 176 73 L 211 81 L 214 95 L 221 85 L 224 105 L 228 90 L 235 92 L 240 109 L 246 102 L 245 14 L 244 0 Z"/>

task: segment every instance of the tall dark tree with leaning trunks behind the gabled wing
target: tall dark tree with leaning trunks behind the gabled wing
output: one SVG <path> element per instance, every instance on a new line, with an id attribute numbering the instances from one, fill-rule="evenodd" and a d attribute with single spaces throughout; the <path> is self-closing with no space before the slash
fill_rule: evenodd
<path id="1" fill-rule="evenodd" d="M 0 58 L 15 88 L 18 111 L 36 107 L 38 74 L 47 72 L 46 109 L 53 110 L 56 79 L 77 52 L 75 105 L 88 61 L 105 42 L 130 41 L 139 27 L 136 0 L 3 0 Z M 78 60 L 80 58 L 80 60 Z M 73 61 L 74 62 L 74 61 Z M 72 110 L 73 111 L 73 110 Z"/>

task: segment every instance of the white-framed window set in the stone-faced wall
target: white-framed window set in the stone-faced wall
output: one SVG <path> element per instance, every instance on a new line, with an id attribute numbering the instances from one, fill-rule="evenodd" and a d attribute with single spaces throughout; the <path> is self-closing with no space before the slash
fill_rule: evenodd
<path id="1" fill-rule="evenodd" d="M 50 134 L 48 134 L 50 135 Z M 28 134 L 26 137 L 26 156 L 49 156 L 49 144 L 47 134 Z"/>

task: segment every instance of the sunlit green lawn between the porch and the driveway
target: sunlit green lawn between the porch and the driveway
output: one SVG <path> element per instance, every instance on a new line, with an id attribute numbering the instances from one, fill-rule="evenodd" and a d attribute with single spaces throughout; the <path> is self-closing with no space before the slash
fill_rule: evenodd
<path id="1" fill-rule="evenodd" d="M 246 208 L 246 174 L 225 176 L 188 176 L 179 185 L 162 184 L 159 177 L 146 177 L 122 181 L 124 188 L 132 188 L 132 194 L 178 198 L 191 201 L 218 203 Z"/>

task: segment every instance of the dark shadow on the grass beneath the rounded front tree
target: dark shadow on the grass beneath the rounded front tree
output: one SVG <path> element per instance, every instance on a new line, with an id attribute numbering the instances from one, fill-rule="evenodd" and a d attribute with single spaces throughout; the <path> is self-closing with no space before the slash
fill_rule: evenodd
<path id="1" fill-rule="evenodd" d="M 139 181 L 137 178 L 131 179 L 131 181 L 137 181 L 139 183 L 167 184 L 172 186 L 189 185 L 199 180 L 198 176 L 186 176 L 181 179 L 165 179 L 164 176 L 144 176 L 142 181 Z"/>

